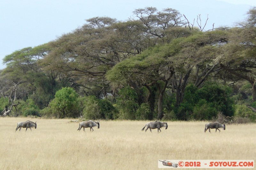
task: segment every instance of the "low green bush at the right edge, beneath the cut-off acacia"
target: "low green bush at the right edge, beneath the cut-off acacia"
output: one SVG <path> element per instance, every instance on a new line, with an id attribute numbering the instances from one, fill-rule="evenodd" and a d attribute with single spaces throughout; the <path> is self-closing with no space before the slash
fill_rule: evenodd
<path id="1" fill-rule="evenodd" d="M 256 122 L 256 113 L 249 109 L 246 105 L 235 105 L 235 116 L 249 118 L 252 122 Z"/>

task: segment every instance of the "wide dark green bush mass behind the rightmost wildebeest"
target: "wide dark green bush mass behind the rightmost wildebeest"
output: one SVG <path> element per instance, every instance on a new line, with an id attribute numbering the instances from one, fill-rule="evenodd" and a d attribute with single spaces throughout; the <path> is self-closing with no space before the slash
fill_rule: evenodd
<path id="1" fill-rule="evenodd" d="M 211 120 L 218 112 L 232 116 L 234 101 L 231 92 L 229 88 L 223 89 L 213 82 L 205 82 L 201 88 L 189 84 L 183 102 L 176 108 L 177 115 L 182 120 Z"/>

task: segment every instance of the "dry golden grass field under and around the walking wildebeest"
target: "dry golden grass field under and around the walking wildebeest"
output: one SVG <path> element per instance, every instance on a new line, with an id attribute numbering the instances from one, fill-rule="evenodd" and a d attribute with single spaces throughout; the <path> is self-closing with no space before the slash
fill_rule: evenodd
<path id="1" fill-rule="evenodd" d="M 100 121 L 100 129 L 78 132 L 72 119 L 30 119 L 36 129 L 15 132 L 27 119 L 0 117 L 0 169 L 158 169 L 159 159 L 256 158 L 256 124 L 204 133 L 206 122 L 168 122 L 157 134 L 141 131 L 147 121 Z"/>

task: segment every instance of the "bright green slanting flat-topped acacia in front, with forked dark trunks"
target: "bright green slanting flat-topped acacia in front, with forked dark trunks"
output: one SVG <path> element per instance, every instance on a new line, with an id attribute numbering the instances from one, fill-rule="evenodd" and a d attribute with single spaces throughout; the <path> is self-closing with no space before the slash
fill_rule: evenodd
<path id="1" fill-rule="evenodd" d="M 178 107 L 183 100 L 185 87 L 193 68 L 205 62 L 212 63 L 212 68 L 218 64 L 214 52 L 218 51 L 218 44 L 222 41 L 226 39 L 219 32 L 193 32 L 191 36 L 149 48 L 136 57 L 118 63 L 108 71 L 107 78 L 114 86 L 130 84 L 131 80 L 147 88 L 156 85 L 159 93 L 158 119 L 162 119 L 163 95 L 166 88 L 171 88 L 176 94 L 175 106 Z M 204 76 L 198 76 L 197 69 L 197 79 L 204 81 L 212 68 L 202 72 L 201 75 Z M 179 115 L 177 116 L 181 119 Z"/>

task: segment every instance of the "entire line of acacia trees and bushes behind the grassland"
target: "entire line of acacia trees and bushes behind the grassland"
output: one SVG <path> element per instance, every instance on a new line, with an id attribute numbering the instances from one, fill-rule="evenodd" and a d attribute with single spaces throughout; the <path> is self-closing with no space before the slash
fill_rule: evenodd
<path id="1" fill-rule="evenodd" d="M 211 30 L 171 8 L 133 14 L 90 18 L 6 55 L 1 115 L 255 121 L 256 7 L 237 26 Z"/>

